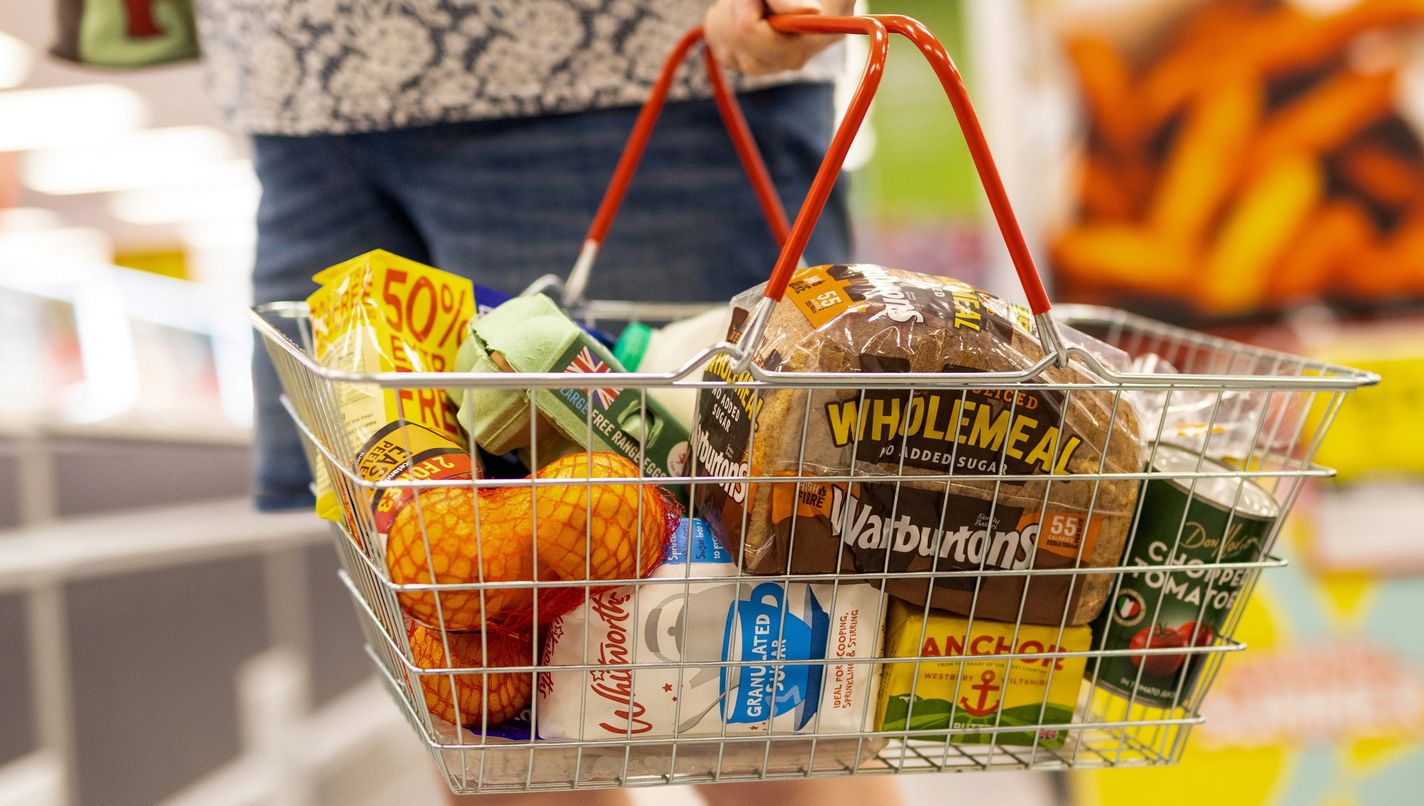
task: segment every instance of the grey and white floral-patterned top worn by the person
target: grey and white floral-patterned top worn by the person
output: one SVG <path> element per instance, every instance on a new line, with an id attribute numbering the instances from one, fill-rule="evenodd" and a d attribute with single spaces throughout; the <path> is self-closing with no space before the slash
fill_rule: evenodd
<path id="1" fill-rule="evenodd" d="M 197 0 L 212 95 L 259 134 L 355 132 L 639 104 L 711 0 Z M 800 73 L 830 80 L 830 48 Z M 705 97 L 689 60 L 674 98 Z"/>

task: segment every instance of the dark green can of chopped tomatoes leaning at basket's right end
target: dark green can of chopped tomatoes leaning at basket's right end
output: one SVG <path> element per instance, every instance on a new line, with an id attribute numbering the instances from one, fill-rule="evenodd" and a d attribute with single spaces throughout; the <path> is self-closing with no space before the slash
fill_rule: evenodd
<path id="1" fill-rule="evenodd" d="M 1128 649 L 1098 662 L 1096 685 L 1132 702 L 1176 708 L 1196 681 L 1242 588 L 1262 560 L 1279 518 L 1276 500 L 1230 469 L 1173 446 L 1159 446 L 1155 473 L 1223 473 L 1149 478 L 1111 607 L 1094 624 L 1101 649 Z M 1186 565 L 1161 571 L 1162 565 Z M 1190 568 L 1210 565 L 1208 568 Z M 1172 652 L 1171 649 L 1179 649 Z"/>

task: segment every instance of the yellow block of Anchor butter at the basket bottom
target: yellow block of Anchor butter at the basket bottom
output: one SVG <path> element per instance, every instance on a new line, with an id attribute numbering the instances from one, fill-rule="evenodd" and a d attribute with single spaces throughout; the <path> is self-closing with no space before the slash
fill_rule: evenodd
<path id="1" fill-rule="evenodd" d="M 1081 652 L 1091 644 L 1092 631 L 1088 627 L 1059 631 L 1057 627 L 1024 624 L 1018 628 L 1015 642 L 1012 624 L 977 618 L 971 634 L 968 619 L 936 609 L 930 611 L 926 624 L 923 607 L 894 600 L 886 624 L 886 658 L 921 659 L 917 664 L 886 664 L 876 706 L 876 728 L 926 731 L 1024 726 L 1024 731 L 998 733 L 954 733 L 950 742 L 1061 748 L 1068 732 L 1055 725 L 1072 722 L 1078 689 L 1082 686 L 1084 658 L 994 658 L 1011 654 Z"/>

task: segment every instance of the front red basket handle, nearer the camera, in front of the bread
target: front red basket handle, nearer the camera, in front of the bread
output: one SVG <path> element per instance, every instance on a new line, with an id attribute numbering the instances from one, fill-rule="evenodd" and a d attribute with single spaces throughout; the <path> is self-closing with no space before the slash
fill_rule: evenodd
<path id="1" fill-rule="evenodd" d="M 903 14 L 869 14 L 847 17 L 820 14 L 776 14 L 768 17 L 768 20 L 773 28 L 782 33 L 866 36 L 870 38 L 870 57 L 866 60 L 866 70 L 860 78 L 860 84 L 856 87 L 854 95 L 850 100 L 846 117 L 840 121 L 840 125 L 832 138 L 830 148 L 826 151 L 826 157 L 820 164 L 820 169 L 812 181 L 810 191 L 806 194 L 806 201 L 802 204 L 802 208 L 796 215 L 796 222 L 792 225 L 790 236 L 786 239 L 786 244 L 782 245 L 776 268 L 772 271 L 772 278 L 766 283 L 765 298 L 748 319 L 748 325 L 740 340 L 742 360 L 738 362 L 738 369 L 745 369 L 746 365 L 750 363 L 750 356 L 755 352 L 756 343 L 766 328 L 766 322 L 770 319 L 772 306 L 780 302 L 782 296 L 786 293 L 786 285 L 790 282 L 792 273 L 796 271 L 802 252 L 805 252 L 806 244 L 810 241 L 810 234 L 816 228 L 817 219 L 820 219 L 820 214 L 826 206 L 826 199 L 830 197 L 836 178 L 840 175 L 842 165 L 844 165 L 850 144 L 854 141 L 856 132 L 860 131 L 860 125 L 864 122 L 866 111 L 870 108 L 870 101 L 874 97 L 876 90 L 880 87 L 880 78 L 884 74 L 884 64 L 890 51 L 889 34 L 891 33 L 903 36 L 914 43 L 924 58 L 930 63 L 930 67 L 938 77 L 940 84 L 944 87 L 944 93 L 948 95 L 950 105 L 954 108 L 954 115 L 958 120 L 960 131 L 963 132 L 970 155 L 974 159 L 974 168 L 978 172 L 980 184 L 984 187 L 990 208 L 994 212 L 994 219 L 998 222 L 1000 234 L 1004 236 L 1004 244 L 1008 246 L 1008 255 L 1014 262 L 1014 269 L 1018 272 L 1018 281 L 1028 299 L 1028 308 L 1034 313 L 1044 352 L 1054 355 L 1058 366 L 1067 366 L 1068 350 L 1064 346 L 1058 326 L 1048 315 L 1052 305 L 1048 302 L 1048 293 L 1044 289 L 1042 278 L 1040 278 L 1038 269 L 1034 266 L 1034 256 L 1028 251 L 1028 244 L 1024 241 L 1022 229 L 1018 226 L 1018 218 L 1014 215 L 1014 208 L 1008 201 L 1008 192 L 1004 189 L 1004 181 L 1000 178 L 998 167 L 994 164 L 994 157 L 990 152 L 984 130 L 974 111 L 974 104 L 970 101 L 964 78 L 960 75 L 960 71 L 954 66 L 954 60 L 950 58 L 944 44 L 940 43 L 934 33 L 930 31 L 930 28 L 927 28 L 923 23 Z"/>

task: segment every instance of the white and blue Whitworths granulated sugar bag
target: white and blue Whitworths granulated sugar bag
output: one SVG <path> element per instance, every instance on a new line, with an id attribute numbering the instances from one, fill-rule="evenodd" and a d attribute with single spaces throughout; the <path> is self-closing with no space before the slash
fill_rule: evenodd
<path id="1" fill-rule="evenodd" d="M 732 555 L 706 523 L 685 518 L 644 584 L 594 594 L 587 608 L 555 621 L 541 659 L 550 669 L 538 678 L 538 736 L 870 729 L 877 665 L 836 661 L 879 656 L 880 591 L 866 584 L 678 581 L 735 575 Z M 758 662 L 715 665 L 722 661 Z M 639 668 L 619 668 L 628 664 Z M 595 668 L 558 671 L 568 665 Z"/>

